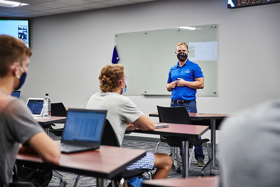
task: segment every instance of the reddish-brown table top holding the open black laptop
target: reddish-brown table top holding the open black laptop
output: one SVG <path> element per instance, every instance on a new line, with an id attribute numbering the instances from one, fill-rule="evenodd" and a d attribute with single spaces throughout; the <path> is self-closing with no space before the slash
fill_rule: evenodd
<path id="1" fill-rule="evenodd" d="M 146 155 L 144 150 L 100 146 L 97 150 L 62 153 L 60 165 L 44 163 L 36 154 L 18 154 L 17 162 L 82 175 L 111 179 Z"/>

